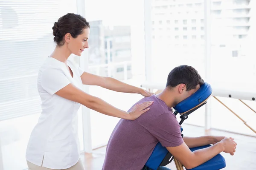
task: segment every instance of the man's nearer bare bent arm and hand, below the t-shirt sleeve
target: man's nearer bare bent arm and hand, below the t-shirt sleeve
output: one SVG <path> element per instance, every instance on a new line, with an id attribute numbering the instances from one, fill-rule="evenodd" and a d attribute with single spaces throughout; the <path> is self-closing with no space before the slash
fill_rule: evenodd
<path id="1" fill-rule="evenodd" d="M 233 141 L 233 138 L 225 138 L 221 140 L 221 142 L 210 147 L 195 150 L 194 152 L 189 150 L 189 147 L 185 142 L 177 147 L 166 148 L 178 161 L 180 161 L 181 164 L 184 165 L 184 167 L 186 167 L 186 169 L 192 169 L 212 159 L 218 153 L 223 151 L 234 155 L 234 152 L 236 152 L 236 142 Z"/>

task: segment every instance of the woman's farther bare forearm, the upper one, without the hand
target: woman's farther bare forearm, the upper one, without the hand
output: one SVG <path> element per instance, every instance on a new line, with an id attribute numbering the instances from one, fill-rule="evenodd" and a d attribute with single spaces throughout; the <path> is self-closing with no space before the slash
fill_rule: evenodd
<path id="1" fill-rule="evenodd" d="M 124 82 L 121 82 L 117 79 L 111 78 L 111 77 L 104 77 L 104 84 L 102 85 L 102 88 L 107 88 L 112 91 L 117 92 L 123 92 L 123 93 L 137 93 L 141 94 L 142 89 L 135 87 L 133 85 L 128 85 Z"/>

